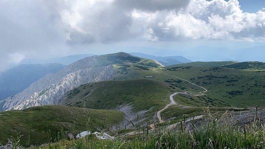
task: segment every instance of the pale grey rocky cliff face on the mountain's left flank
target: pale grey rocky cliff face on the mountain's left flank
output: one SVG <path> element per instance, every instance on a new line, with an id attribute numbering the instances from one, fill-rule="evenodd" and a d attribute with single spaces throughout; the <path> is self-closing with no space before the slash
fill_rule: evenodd
<path id="1" fill-rule="evenodd" d="M 46 74 L 22 92 L 4 100 L 3 110 L 20 110 L 38 105 L 58 104 L 69 90 L 82 84 L 112 79 L 111 65 L 99 67 L 100 56 L 82 59 L 55 73 Z"/>

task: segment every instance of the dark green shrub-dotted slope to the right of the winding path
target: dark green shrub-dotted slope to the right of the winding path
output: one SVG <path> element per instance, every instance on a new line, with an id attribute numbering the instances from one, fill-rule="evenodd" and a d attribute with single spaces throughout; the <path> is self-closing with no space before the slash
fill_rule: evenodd
<path id="1" fill-rule="evenodd" d="M 208 89 L 205 106 L 248 107 L 265 105 L 265 71 L 246 71 L 223 67 L 180 67 L 160 70 Z"/>

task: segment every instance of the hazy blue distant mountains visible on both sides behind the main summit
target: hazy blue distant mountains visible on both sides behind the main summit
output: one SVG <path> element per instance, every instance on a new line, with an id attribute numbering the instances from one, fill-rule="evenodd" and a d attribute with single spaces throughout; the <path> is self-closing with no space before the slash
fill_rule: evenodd
<path id="1" fill-rule="evenodd" d="M 131 54 L 142 58 L 156 60 L 163 66 L 191 62 L 181 56 L 156 57 L 142 53 Z M 57 71 L 63 69 L 64 65 L 70 65 L 78 60 L 91 56 L 93 56 L 93 54 L 71 55 L 50 59 L 24 59 L 20 62 L 21 65 L 6 70 L 0 74 L 0 100 L 24 90 L 29 87 L 31 83 L 38 80 L 45 74 L 56 73 Z"/>

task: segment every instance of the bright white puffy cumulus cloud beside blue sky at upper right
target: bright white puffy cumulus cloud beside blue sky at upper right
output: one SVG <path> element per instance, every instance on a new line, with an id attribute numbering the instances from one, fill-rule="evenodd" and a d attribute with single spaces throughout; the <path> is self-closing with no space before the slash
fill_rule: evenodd
<path id="1" fill-rule="evenodd" d="M 238 0 L 191 0 L 181 11 L 133 11 L 134 21 L 152 28 L 160 40 L 228 39 L 262 41 L 265 9 L 243 12 Z"/>

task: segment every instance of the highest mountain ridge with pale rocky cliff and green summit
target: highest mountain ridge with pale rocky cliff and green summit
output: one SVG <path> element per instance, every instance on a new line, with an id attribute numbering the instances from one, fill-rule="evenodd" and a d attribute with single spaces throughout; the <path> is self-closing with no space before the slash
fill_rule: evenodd
<path id="1" fill-rule="evenodd" d="M 155 61 L 123 52 L 84 58 L 55 74 L 41 77 L 23 91 L 6 98 L 3 109 L 24 109 L 37 105 L 57 104 L 59 102 L 57 100 L 64 93 L 75 87 L 93 81 L 113 79 L 115 72 L 113 65 L 135 65 L 142 69 L 160 66 Z M 58 89 L 57 86 L 61 87 Z"/>

